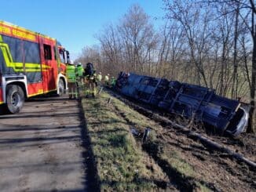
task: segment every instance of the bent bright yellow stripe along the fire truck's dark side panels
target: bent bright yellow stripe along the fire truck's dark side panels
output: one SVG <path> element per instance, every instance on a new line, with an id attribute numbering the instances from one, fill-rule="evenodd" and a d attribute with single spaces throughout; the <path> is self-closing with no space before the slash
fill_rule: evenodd
<path id="1" fill-rule="evenodd" d="M 2 39 L 2 35 L 0 35 L 0 41 Z M 12 67 L 15 72 L 24 71 L 23 63 L 14 63 L 12 54 L 9 50 L 9 45 L 6 43 L 0 42 L 0 47 L 2 49 L 2 55 L 5 59 L 6 67 Z M 42 67 L 42 71 L 47 71 L 49 68 L 48 65 L 40 64 L 40 63 L 25 63 L 26 72 L 40 72 Z"/>

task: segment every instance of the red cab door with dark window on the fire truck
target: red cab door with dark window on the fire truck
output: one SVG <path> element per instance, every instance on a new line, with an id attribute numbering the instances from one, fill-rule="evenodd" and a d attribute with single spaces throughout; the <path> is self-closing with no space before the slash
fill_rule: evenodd
<path id="1" fill-rule="evenodd" d="M 57 56 L 55 41 L 49 38 L 41 38 L 40 49 L 42 58 L 43 91 L 51 92 L 57 89 Z"/>

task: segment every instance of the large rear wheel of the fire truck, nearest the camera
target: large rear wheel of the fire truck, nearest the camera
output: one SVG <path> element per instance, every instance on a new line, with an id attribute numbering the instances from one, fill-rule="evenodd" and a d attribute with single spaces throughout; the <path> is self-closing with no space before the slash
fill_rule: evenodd
<path id="1" fill-rule="evenodd" d="M 24 92 L 18 85 L 7 85 L 6 104 L 9 113 L 18 113 L 24 104 Z"/>

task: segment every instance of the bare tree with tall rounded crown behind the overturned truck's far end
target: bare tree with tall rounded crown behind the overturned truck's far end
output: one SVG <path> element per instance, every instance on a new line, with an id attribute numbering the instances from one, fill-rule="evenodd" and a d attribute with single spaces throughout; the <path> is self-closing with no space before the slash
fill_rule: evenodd
<path id="1" fill-rule="evenodd" d="M 148 62 L 149 55 L 156 45 L 156 34 L 149 16 L 144 13 L 140 5 L 132 5 L 119 24 L 119 33 L 127 60 L 131 63 L 133 71 L 144 72 L 144 64 Z"/>

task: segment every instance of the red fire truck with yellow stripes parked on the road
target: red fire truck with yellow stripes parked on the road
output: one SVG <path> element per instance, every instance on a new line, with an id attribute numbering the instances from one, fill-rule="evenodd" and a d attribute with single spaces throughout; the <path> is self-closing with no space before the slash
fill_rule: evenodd
<path id="1" fill-rule="evenodd" d="M 69 53 L 54 38 L 0 20 L 1 110 L 18 113 L 24 100 L 68 89 Z"/>

